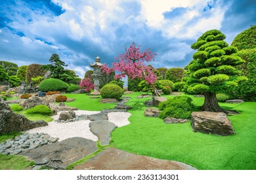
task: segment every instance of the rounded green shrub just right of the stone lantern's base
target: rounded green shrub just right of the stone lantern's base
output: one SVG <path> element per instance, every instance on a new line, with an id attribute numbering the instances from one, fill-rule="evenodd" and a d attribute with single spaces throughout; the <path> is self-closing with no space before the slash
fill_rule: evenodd
<path id="1" fill-rule="evenodd" d="M 106 84 L 100 90 L 100 95 L 104 99 L 116 98 L 119 99 L 123 95 L 123 89 L 117 84 Z"/>

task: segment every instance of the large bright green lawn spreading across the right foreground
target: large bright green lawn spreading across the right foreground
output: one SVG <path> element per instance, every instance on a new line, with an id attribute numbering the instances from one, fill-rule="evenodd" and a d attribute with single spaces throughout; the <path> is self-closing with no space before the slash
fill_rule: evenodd
<path id="1" fill-rule="evenodd" d="M 129 110 L 131 124 L 114 130 L 112 145 L 135 154 L 181 161 L 197 169 L 256 169 L 256 103 L 220 103 L 241 113 L 228 116 L 236 135 L 221 137 L 194 133 L 190 122 L 165 124 L 160 118 L 145 117 L 143 103 L 150 98 L 137 99 L 137 95 L 129 95 L 127 103 L 133 106 Z M 188 96 L 195 105 L 203 104 L 203 98 Z"/>

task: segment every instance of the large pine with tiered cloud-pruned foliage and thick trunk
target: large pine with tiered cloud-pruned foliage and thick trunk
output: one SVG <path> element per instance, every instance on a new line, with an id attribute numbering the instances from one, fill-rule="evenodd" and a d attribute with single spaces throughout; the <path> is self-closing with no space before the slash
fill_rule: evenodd
<path id="1" fill-rule="evenodd" d="M 216 93 L 232 86 L 238 86 L 244 76 L 235 66 L 245 61 L 234 54 L 238 49 L 223 41 L 226 36 L 218 30 L 203 33 L 191 48 L 198 50 L 188 65 L 188 92 L 203 93 L 205 100 L 202 110 L 226 112 L 218 104 Z"/>

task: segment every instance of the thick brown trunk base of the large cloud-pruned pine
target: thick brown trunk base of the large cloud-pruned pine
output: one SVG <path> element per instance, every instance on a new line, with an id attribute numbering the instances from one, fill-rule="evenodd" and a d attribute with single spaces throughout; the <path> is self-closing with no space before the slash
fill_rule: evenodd
<path id="1" fill-rule="evenodd" d="M 201 107 L 202 110 L 210 112 L 224 112 L 226 114 L 238 114 L 238 112 L 234 110 L 225 110 L 224 108 L 221 108 L 217 101 L 216 93 L 205 92 L 203 95 L 204 103 Z"/>

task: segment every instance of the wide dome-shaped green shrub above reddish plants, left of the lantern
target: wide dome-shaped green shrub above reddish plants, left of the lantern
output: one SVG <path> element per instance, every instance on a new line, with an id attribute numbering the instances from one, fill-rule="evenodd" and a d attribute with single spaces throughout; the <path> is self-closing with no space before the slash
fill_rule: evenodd
<path id="1" fill-rule="evenodd" d="M 39 90 L 43 92 L 66 90 L 68 84 L 62 80 L 49 78 L 39 84 Z"/>

